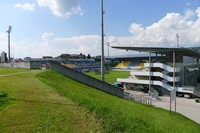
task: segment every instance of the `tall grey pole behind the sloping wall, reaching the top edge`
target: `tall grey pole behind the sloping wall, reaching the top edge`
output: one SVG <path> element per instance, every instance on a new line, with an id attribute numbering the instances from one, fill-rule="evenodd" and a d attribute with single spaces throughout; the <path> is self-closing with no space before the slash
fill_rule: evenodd
<path id="1" fill-rule="evenodd" d="M 101 80 L 104 82 L 104 23 L 103 0 L 101 0 Z"/>

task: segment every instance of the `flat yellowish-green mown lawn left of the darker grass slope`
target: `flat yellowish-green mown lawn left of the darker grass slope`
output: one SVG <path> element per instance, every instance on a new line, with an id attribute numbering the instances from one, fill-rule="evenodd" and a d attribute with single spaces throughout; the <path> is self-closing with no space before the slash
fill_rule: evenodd
<path id="1" fill-rule="evenodd" d="M 13 71 L 14 69 L 0 69 Z M 15 72 L 24 70 L 16 69 Z M 40 71 L 0 77 L 0 132 L 67 133 L 104 131 L 99 119 L 36 78 Z"/>

